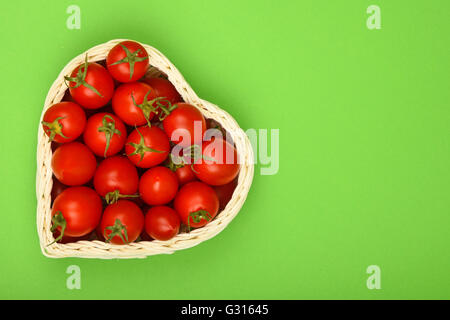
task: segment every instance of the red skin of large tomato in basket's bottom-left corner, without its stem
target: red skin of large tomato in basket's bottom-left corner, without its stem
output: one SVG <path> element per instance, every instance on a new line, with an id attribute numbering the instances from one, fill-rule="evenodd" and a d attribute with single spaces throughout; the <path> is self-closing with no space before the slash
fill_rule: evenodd
<path id="1" fill-rule="evenodd" d="M 52 216 L 61 212 L 66 220 L 64 236 L 82 237 L 92 232 L 100 222 L 102 201 L 88 187 L 71 187 L 59 194 L 52 207 Z M 58 227 L 61 231 L 61 227 Z"/>

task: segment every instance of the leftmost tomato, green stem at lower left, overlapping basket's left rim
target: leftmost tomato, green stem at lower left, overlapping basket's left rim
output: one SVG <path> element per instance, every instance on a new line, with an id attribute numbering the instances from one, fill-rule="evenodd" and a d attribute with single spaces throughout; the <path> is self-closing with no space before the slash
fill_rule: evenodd
<path id="1" fill-rule="evenodd" d="M 44 113 L 42 127 L 50 141 L 71 142 L 78 138 L 86 126 L 84 110 L 73 102 L 52 105 Z"/>

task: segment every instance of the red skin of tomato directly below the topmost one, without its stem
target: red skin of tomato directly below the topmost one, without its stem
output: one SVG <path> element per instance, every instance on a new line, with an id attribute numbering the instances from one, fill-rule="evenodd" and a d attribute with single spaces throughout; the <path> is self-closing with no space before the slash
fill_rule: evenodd
<path id="1" fill-rule="evenodd" d="M 125 83 L 117 87 L 112 98 L 112 107 L 114 112 L 130 126 L 142 126 L 147 124 L 147 119 L 144 112 L 137 105 L 144 102 L 145 95 L 147 101 L 156 98 L 156 92 L 146 83 L 132 82 Z M 133 102 L 134 98 L 134 102 Z M 148 119 L 151 120 L 154 116 L 153 112 L 149 113 Z"/>

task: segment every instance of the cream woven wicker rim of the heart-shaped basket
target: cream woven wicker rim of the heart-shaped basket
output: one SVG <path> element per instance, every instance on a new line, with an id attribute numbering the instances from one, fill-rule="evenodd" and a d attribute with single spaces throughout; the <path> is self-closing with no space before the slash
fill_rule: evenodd
<path id="1" fill-rule="evenodd" d="M 51 105 L 61 101 L 67 89 L 64 83 L 64 75 L 69 74 L 76 66 L 82 64 L 86 53 L 89 61 L 104 60 L 109 50 L 121 41 L 123 41 L 123 39 L 111 40 L 107 43 L 98 45 L 70 61 L 61 71 L 48 92 L 41 120 L 45 111 Z M 226 208 L 205 227 L 193 230 L 190 233 L 180 233 L 169 241 L 140 241 L 128 245 L 114 245 L 94 240 L 78 241 L 67 244 L 54 243 L 48 245 L 54 240 L 53 234 L 50 231 L 51 190 L 53 185 L 51 169 L 52 151 L 51 144 L 48 142 L 48 137 L 45 135 L 42 126 L 39 126 L 36 175 L 36 194 L 38 200 L 37 229 L 41 250 L 47 257 L 112 259 L 145 258 L 146 256 L 160 253 L 170 254 L 176 250 L 193 247 L 217 235 L 237 215 L 244 204 L 253 179 L 253 151 L 248 137 L 227 112 L 208 101 L 200 99 L 186 80 L 184 80 L 177 68 L 164 55 L 151 46 L 143 46 L 149 54 L 150 64 L 152 66 L 150 72 L 161 72 L 167 75 L 168 79 L 174 84 L 184 101 L 196 106 L 206 118 L 212 118 L 218 121 L 222 127 L 230 133 L 241 161 L 238 185 L 234 191 L 233 197 Z"/>

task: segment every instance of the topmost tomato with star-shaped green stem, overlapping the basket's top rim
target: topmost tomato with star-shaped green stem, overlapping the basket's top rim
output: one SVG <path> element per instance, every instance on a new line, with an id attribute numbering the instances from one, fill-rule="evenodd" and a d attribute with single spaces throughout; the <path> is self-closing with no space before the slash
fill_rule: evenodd
<path id="1" fill-rule="evenodd" d="M 132 82 L 142 78 L 149 65 L 148 53 L 135 41 L 116 44 L 106 57 L 106 66 L 114 79 Z"/>

